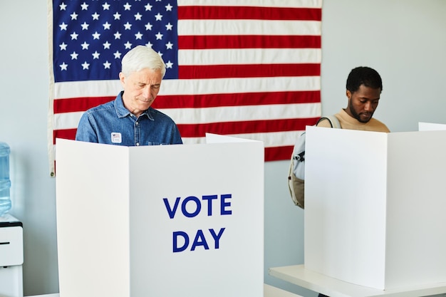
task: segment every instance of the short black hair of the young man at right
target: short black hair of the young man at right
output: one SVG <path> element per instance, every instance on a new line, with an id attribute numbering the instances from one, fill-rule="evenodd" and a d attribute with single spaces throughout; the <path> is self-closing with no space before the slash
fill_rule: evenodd
<path id="1" fill-rule="evenodd" d="M 359 89 L 360 85 L 365 85 L 366 87 L 374 89 L 380 88 L 381 91 L 383 90 L 383 81 L 381 80 L 378 71 L 375 71 L 375 69 L 370 67 L 356 67 L 351 70 L 350 74 L 348 74 L 346 85 L 347 90 L 354 93 Z"/>

